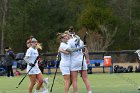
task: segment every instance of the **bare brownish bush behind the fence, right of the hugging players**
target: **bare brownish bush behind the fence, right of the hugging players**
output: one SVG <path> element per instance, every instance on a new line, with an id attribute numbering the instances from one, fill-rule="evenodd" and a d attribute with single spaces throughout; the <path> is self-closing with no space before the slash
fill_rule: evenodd
<path id="1" fill-rule="evenodd" d="M 83 36 L 85 32 L 88 32 L 87 45 L 91 52 L 107 50 L 108 47 L 113 44 L 113 38 L 118 31 L 118 27 L 115 27 L 112 30 L 110 25 L 99 25 L 99 29 L 101 32 L 92 31 L 87 28 L 82 28 L 79 31 L 80 36 Z"/>

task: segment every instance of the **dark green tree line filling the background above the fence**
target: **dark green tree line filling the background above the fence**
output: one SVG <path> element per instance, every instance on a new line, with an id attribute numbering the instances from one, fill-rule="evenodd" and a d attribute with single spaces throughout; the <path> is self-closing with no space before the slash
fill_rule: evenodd
<path id="1" fill-rule="evenodd" d="M 140 47 L 140 0 L 0 0 L 0 48 L 26 51 L 33 35 L 42 52 L 57 52 L 56 34 L 74 26 L 89 51 Z"/>

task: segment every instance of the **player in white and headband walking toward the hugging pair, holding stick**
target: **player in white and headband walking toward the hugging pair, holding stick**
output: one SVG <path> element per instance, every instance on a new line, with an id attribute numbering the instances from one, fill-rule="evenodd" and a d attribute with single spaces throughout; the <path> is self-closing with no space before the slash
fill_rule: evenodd
<path id="1" fill-rule="evenodd" d="M 39 91 L 43 84 L 43 75 L 38 67 L 37 57 L 39 56 L 38 50 L 36 48 L 37 40 L 32 38 L 31 46 L 27 49 L 24 60 L 27 62 L 27 72 L 29 74 L 30 85 L 29 85 L 29 93 L 32 93 L 33 87 L 38 82 L 35 93 Z"/>

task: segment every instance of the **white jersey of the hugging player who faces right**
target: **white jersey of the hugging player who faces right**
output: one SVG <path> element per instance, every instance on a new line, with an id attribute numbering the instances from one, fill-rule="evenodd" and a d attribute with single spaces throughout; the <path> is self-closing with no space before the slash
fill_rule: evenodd
<path id="1" fill-rule="evenodd" d="M 68 43 L 61 42 L 59 49 L 66 50 L 69 47 L 70 46 L 68 45 Z M 66 66 L 70 67 L 70 54 L 64 54 L 62 52 L 60 52 L 60 54 L 61 54 L 60 67 L 66 67 Z"/>

